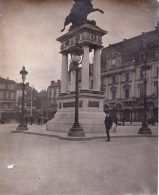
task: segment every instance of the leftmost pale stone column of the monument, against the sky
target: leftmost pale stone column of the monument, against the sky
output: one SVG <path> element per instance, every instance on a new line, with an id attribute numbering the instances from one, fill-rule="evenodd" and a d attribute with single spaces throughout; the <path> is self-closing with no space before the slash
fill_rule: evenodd
<path id="1" fill-rule="evenodd" d="M 62 54 L 62 68 L 61 68 L 61 93 L 68 92 L 68 54 Z"/>

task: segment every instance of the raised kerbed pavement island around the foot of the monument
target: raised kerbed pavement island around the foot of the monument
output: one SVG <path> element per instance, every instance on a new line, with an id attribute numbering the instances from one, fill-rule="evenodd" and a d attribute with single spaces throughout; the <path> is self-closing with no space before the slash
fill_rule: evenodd
<path id="1" fill-rule="evenodd" d="M 17 124 L 12 125 L 12 130 L 13 132 L 16 131 Z M 53 136 L 56 138 L 64 139 L 64 140 L 91 140 L 91 139 L 106 139 L 106 133 L 105 131 L 103 133 L 87 133 L 85 132 L 85 137 L 84 138 L 73 138 L 73 137 L 68 137 L 68 132 L 63 132 L 63 131 L 47 131 L 45 125 L 28 125 L 29 130 L 28 131 L 22 131 L 23 133 L 27 134 L 35 134 L 35 135 L 43 135 L 43 136 Z M 138 131 L 141 127 L 141 123 L 135 123 L 133 125 L 130 125 L 128 123 L 126 126 L 118 126 L 116 128 L 116 132 L 110 131 L 110 136 L 111 138 L 116 138 L 116 137 L 143 137 L 147 136 L 145 134 L 138 134 Z M 152 126 L 149 125 L 152 135 L 151 136 L 157 136 L 158 135 L 158 129 L 157 125 Z M 69 131 L 69 130 L 68 130 Z M 149 134 L 148 134 L 149 136 Z"/>

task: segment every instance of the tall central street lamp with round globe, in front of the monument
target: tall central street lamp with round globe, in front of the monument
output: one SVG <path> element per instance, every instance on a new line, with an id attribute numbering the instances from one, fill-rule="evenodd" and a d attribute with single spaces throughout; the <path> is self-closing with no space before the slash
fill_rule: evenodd
<path id="1" fill-rule="evenodd" d="M 79 124 L 79 116 L 78 116 L 78 105 L 79 105 L 79 101 L 78 101 L 78 70 L 79 67 L 78 65 L 82 62 L 82 54 L 83 54 L 83 50 L 79 45 L 76 45 L 76 47 L 73 49 L 72 53 L 71 53 L 71 60 L 72 63 L 74 65 L 74 70 L 75 70 L 75 77 L 76 77 L 76 88 L 75 88 L 75 118 L 74 118 L 74 124 L 72 126 L 72 128 L 70 129 L 68 136 L 71 137 L 84 137 L 85 133 L 82 129 L 82 127 Z"/>

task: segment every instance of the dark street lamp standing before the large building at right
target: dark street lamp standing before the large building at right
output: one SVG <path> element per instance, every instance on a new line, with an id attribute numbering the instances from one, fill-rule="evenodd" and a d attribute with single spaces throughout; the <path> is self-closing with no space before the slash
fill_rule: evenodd
<path id="1" fill-rule="evenodd" d="M 152 134 L 150 128 L 148 127 L 147 123 L 147 78 L 146 78 L 146 71 L 150 70 L 151 66 L 144 62 L 142 65 L 141 70 L 144 73 L 143 83 L 144 83 L 144 116 L 142 121 L 142 127 L 139 129 L 138 134 Z"/>

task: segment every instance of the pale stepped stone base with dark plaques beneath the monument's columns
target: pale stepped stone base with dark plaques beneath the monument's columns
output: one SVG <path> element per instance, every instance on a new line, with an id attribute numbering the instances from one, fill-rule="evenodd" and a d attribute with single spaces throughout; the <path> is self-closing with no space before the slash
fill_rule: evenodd
<path id="1" fill-rule="evenodd" d="M 79 94 L 79 124 L 85 133 L 105 132 L 104 96 L 100 94 Z M 74 123 L 74 94 L 59 97 L 55 118 L 47 122 L 50 131 L 69 132 Z"/>

